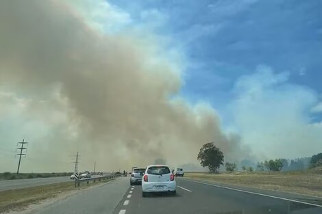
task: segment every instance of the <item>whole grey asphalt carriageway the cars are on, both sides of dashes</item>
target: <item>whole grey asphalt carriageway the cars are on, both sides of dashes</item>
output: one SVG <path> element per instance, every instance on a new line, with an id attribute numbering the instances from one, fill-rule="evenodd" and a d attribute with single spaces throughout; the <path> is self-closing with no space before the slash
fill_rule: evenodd
<path id="1" fill-rule="evenodd" d="M 177 195 L 154 193 L 142 197 L 140 185 L 129 177 L 81 190 L 28 214 L 321 214 L 322 202 L 277 191 L 216 185 L 206 181 L 176 178 Z M 28 208 L 27 208 L 28 211 Z"/>

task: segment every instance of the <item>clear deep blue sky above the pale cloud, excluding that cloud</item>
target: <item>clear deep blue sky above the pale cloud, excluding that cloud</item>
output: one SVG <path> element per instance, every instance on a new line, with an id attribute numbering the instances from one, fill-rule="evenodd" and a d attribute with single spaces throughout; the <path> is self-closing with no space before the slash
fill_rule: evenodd
<path id="1" fill-rule="evenodd" d="M 161 23 L 153 31 L 186 57 L 182 94 L 190 102 L 209 101 L 224 118 L 238 78 L 261 64 L 289 72 L 288 83 L 322 91 L 319 0 L 108 2 L 134 23 Z"/>

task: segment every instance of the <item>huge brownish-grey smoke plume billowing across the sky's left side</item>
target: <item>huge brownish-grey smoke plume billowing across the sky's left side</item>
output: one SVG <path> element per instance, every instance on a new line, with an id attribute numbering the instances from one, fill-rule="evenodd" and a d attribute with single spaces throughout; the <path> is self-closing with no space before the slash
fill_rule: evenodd
<path id="1" fill-rule="evenodd" d="M 23 102 L 29 170 L 72 170 L 56 163 L 77 150 L 83 168 L 103 170 L 195 163 L 207 142 L 240 152 L 214 109 L 179 98 L 182 79 L 156 44 L 103 35 L 58 1 L 0 1 L 0 31 L 0 90 Z"/>

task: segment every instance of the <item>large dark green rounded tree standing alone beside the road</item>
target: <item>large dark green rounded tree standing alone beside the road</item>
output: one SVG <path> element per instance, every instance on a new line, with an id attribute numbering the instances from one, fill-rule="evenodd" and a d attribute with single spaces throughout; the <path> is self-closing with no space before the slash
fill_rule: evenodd
<path id="1" fill-rule="evenodd" d="M 218 172 L 220 165 L 223 165 L 223 152 L 214 146 L 214 143 L 204 144 L 197 159 L 203 167 L 208 167 L 210 172 Z"/>

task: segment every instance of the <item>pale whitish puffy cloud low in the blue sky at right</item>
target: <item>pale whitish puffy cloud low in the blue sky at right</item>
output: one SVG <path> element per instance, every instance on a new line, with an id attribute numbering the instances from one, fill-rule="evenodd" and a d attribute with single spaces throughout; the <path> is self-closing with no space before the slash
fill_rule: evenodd
<path id="1" fill-rule="evenodd" d="M 308 111 L 317 93 L 288 83 L 288 72 L 260 66 L 235 85 L 232 111 L 245 144 L 260 158 L 294 158 L 321 151 L 322 126 L 311 124 Z"/>

